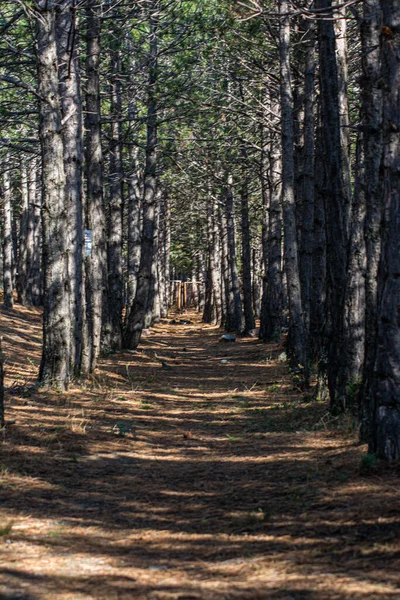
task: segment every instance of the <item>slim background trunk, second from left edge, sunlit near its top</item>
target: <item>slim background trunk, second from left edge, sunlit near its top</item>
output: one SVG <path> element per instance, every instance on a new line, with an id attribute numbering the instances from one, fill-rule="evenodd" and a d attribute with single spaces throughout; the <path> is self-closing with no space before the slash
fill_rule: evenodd
<path id="1" fill-rule="evenodd" d="M 27 284 L 29 272 L 29 182 L 28 166 L 26 160 L 21 162 L 21 215 L 19 225 L 19 253 L 18 253 L 18 276 L 17 294 L 18 302 L 23 306 L 27 304 Z"/>

